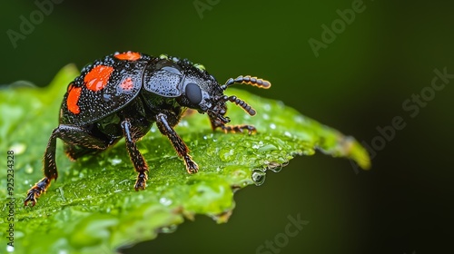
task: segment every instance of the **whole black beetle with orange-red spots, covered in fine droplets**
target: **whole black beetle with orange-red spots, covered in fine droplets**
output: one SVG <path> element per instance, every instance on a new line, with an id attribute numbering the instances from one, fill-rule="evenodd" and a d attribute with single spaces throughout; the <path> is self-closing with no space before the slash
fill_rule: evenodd
<path id="1" fill-rule="evenodd" d="M 136 52 L 115 53 L 88 64 L 80 76 L 69 83 L 60 109 L 59 125 L 49 138 L 44 152 L 44 178 L 27 192 L 25 206 L 38 198 L 58 177 L 55 142 L 64 142 L 67 156 L 76 160 L 85 154 L 104 151 L 123 137 L 134 169 L 138 172 L 135 190 L 143 190 L 148 165 L 135 142 L 149 132 L 153 122 L 167 136 L 183 158 L 186 171 L 199 167 L 189 155 L 182 138 L 173 130 L 187 108 L 207 113 L 212 130 L 256 132 L 252 125 L 226 125 L 226 103 L 235 103 L 254 115 L 255 111 L 236 96 L 223 92 L 233 83 L 270 88 L 268 81 L 239 76 L 219 84 L 202 64 L 192 64 L 165 54 L 153 57 Z"/>

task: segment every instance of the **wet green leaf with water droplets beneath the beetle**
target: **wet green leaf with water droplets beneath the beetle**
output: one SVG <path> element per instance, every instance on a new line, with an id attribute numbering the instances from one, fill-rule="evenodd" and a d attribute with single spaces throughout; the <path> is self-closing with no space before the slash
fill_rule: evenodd
<path id="1" fill-rule="evenodd" d="M 250 103 L 257 115 L 239 107 L 228 112 L 232 124 L 252 123 L 258 133 L 212 132 L 206 115 L 193 113 L 176 131 L 200 166 L 185 171 L 170 142 L 153 126 L 138 147 L 151 171 L 146 190 L 134 191 L 136 173 L 124 142 L 96 156 L 69 161 L 57 142 L 58 181 L 35 207 L 24 207 L 26 191 L 42 178 L 44 148 L 53 128 L 66 84 L 78 74 L 68 65 L 46 88 L 11 85 L 0 90 L 0 151 L 15 151 L 15 186 L 10 199 L 6 170 L 0 171 L 0 252 L 8 243 L 9 203 L 14 204 L 15 253 L 92 253 L 156 238 L 195 214 L 225 222 L 235 207 L 233 193 L 262 184 L 267 170 L 280 171 L 295 155 L 322 151 L 370 167 L 369 155 L 353 138 L 302 116 L 281 102 L 229 89 Z"/>

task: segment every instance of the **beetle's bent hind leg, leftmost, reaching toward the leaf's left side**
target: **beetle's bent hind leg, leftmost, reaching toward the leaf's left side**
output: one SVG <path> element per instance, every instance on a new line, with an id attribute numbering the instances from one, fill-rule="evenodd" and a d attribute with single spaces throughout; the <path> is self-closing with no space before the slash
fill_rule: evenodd
<path id="1" fill-rule="evenodd" d="M 60 124 L 51 134 L 47 147 L 45 148 L 43 158 L 43 171 L 44 178 L 35 183 L 35 185 L 28 190 L 27 197 L 25 198 L 24 205 L 28 202 L 32 202 L 32 206 L 35 206 L 36 199 L 51 185 L 52 180 L 58 178 L 58 171 L 55 164 L 55 147 L 56 139 L 59 138 L 65 143 L 70 145 L 80 145 L 87 149 L 104 150 L 106 143 L 92 136 L 84 129 Z"/>

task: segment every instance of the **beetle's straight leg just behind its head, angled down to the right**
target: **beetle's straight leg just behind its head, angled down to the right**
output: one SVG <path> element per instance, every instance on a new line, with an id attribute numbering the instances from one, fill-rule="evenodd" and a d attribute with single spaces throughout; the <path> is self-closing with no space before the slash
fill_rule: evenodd
<path id="1" fill-rule="evenodd" d="M 180 157 L 183 157 L 186 171 L 188 173 L 196 173 L 199 171 L 199 166 L 195 161 L 192 161 L 191 155 L 189 155 L 189 149 L 183 142 L 182 138 L 173 130 L 172 126 L 167 121 L 167 115 L 159 113 L 156 115 L 156 125 L 163 135 L 167 136 L 170 142 L 172 142 L 173 148 Z"/>

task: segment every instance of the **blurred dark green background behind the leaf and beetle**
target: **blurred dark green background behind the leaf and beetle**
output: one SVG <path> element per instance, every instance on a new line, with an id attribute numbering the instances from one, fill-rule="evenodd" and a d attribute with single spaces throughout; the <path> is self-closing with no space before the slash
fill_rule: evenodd
<path id="1" fill-rule="evenodd" d="M 36 3 L 47 4 L 40 10 Z M 261 187 L 239 191 L 228 223 L 198 216 L 122 253 L 256 253 L 297 214 L 310 223 L 283 247 L 257 253 L 449 250 L 454 78 L 440 91 L 430 84 L 435 69 L 454 74 L 451 2 L 39 0 L 0 6 L 1 84 L 44 86 L 65 64 L 82 68 L 115 51 L 172 54 L 204 64 L 220 82 L 240 74 L 266 78 L 271 90 L 243 89 L 376 148 L 371 171 L 321 153 L 299 157 L 268 173 Z M 360 10 L 354 19 L 345 11 L 352 8 Z M 338 10 L 350 24 L 337 21 Z M 323 34 L 323 24 L 338 34 Z M 311 38 L 325 39 L 316 53 Z M 421 91 L 426 101 L 411 102 Z M 410 108 L 402 105 L 407 100 Z M 405 127 L 380 143 L 385 139 L 377 128 L 396 116 Z"/>

